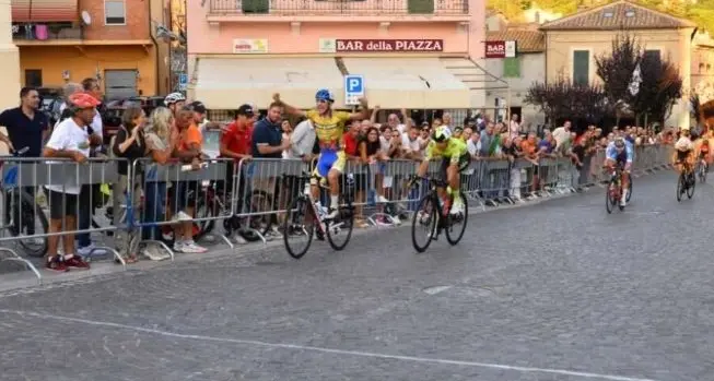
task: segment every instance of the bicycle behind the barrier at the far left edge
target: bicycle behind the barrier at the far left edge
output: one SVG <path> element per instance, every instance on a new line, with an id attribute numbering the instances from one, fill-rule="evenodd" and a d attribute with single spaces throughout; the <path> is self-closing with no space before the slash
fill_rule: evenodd
<path id="1" fill-rule="evenodd" d="M 21 157 L 27 151 L 30 151 L 30 147 L 17 150 L 13 157 Z M 8 164 L 0 162 L 0 168 L 7 166 L 2 168 L 2 187 L 0 188 L 1 199 L 7 210 L 0 228 L 9 230 L 13 237 L 30 236 L 25 239 L 19 239 L 17 243 L 27 255 L 42 258 L 47 253 L 47 216 L 37 202 L 37 198 L 33 194 L 33 192 L 37 192 L 37 188 L 17 184 L 20 166 L 33 165 L 33 163 Z M 28 191 L 28 189 L 32 189 L 33 192 Z M 37 226 L 37 222 L 39 222 L 39 226 Z"/>

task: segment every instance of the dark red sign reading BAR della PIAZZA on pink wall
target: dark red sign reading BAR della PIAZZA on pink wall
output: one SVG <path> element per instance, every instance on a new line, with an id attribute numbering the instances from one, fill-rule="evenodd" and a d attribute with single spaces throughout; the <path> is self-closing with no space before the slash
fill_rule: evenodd
<path id="1" fill-rule="evenodd" d="M 320 52 L 444 51 L 443 39 L 320 38 Z"/>

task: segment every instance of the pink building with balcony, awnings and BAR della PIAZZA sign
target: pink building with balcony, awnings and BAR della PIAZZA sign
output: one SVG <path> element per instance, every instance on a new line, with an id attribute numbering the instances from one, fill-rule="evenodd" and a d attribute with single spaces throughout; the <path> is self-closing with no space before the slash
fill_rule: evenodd
<path id="1" fill-rule="evenodd" d="M 213 110 L 271 94 L 346 105 L 344 75 L 383 109 L 483 105 L 483 0 L 190 0 L 188 95 Z M 349 102 L 348 102 L 349 104 Z"/>

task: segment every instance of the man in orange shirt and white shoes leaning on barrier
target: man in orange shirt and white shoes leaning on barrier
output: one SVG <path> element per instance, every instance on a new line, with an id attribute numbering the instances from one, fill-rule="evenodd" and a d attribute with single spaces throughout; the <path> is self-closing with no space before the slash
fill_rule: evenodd
<path id="1" fill-rule="evenodd" d="M 176 115 L 176 128 L 179 132 L 179 141 L 174 157 L 184 164 L 190 164 L 192 169 L 201 166 L 201 131 L 194 120 L 194 111 L 190 108 L 183 108 Z M 174 219 L 180 222 L 176 228 L 174 251 L 185 253 L 201 253 L 207 249 L 194 242 L 194 223 L 191 218 L 196 209 L 196 199 L 200 191 L 199 181 L 178 181 L 174 193 L 175 210 L 178 212 Z"/>

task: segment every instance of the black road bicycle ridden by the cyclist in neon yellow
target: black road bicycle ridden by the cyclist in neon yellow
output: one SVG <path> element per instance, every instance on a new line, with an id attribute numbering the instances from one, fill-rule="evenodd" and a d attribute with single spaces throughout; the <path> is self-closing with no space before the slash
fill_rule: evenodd
<path id="1" fill-rule="evenodd" d="M 447 183 L 441 179 L 433 179 L 431 177 L 414 177 L 410 184 L 414 187 L 417 180 L 423 180 L 429 183 L 429 192 L 419 202 L 419 207 L 413 214 L 411 224 L 411 242 L 418 252 L 424 252 L 432 241 L 436 240 L 442 230 L 446 233 L 446 241 L 455 246 L 466 233 L 466 225 L 468 224 L 468 204 L 466 194 L 459 190 L 459 195 L 464 202 L 464 212 L 452 215 L 452 205 L 454 203 L 454 195 L 449 194 L 446 202 L 442 201 L 438 197 L 438 189 L 445 189 Z M 441 213 L 440 213 L 441 212 Z M 455 230 L 460 224 L 460 230 Z M 418 234 L 419 227 L 425 227 L 426 234 Z M 424 236 L 426 241 L 424 243 L 418 242 L 418 238 Z"/>

